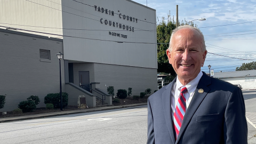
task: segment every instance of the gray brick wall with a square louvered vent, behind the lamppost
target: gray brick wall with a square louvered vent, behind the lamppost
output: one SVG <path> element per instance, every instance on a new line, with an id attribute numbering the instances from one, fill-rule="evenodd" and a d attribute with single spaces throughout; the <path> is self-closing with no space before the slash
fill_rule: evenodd
<path id="1" fill-rule="evenodd" d="M 39 49 L 50 50 L 51 60 L 40 59 Z M 63 52 L 62 39 L 0 29 L 0 95 L 6 94 L 5 106 L 0 111 L 18 108 L 19 102 L 30 95 L 39 97 L 37 107 L 45 107 L 44 97 L 60 89 L 58 52 Z M 65 90 L 63 63 L 61 60 Z"/>

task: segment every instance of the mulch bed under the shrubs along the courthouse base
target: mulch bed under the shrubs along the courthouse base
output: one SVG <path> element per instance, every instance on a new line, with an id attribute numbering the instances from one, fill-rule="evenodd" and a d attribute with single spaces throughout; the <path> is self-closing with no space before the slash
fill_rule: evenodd
<path id="1" fill-rule="evenodd" d="M 118 99 L 118 98 L 117 98 Z M 123 106 L 123 105 L 131 105 L 135 103 L 145 103 L 147 102 L 148 96 L 145 98 L 140 98 L 139 100 L 134 100 L 132 97 L 127 97 L 126 99 L 119 99 L 120 102 L 113 102 L 114 106 Z M 70 110 L 79 110 L 77 106 L 67 106 L 62 109 L 63 111 L 70 111 Z M 17 116 L 26 116 L 26 115 L 36 115 L 36 114 L 44 114 L 44 113 L 54 113 L 54 112 L 60 112 L 60 109 L 46 109 L 45 107 L 42 108 L 36 108 L 35 110 L 27 113 L 13 113 L 13 111 L 7 111 L 6 115 L 2 115 L 2 112 L 0 113 L 0 118 L 4 117 L 17 117 Z"/>

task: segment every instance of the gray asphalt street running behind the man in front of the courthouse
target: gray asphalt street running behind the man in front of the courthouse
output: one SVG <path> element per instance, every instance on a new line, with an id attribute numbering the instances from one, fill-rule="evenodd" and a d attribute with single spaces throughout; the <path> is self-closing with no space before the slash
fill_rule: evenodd
<path id="1" fill-rule="evenodd" d="M 243 91 L 248 143 L 256 143 L 256 91 Z M 1 143 L 146 143 L 147 106 L 0 123 Z"/>

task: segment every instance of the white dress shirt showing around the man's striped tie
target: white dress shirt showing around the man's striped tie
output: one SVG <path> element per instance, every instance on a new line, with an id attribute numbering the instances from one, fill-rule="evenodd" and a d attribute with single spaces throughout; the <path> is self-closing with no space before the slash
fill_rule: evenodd
<path id="1" fill-rule="evenodd" d="M 197 87 L 202 76 L 203 76 L 203 73 L 202 73 L 202 71 L 200 71 L 195 79 L 193 79 L 187 85 L 185 85 L 188 90 L 188 92 L 185 93 L 186 109 L 188 108 L 189 103 L 193 98 L 196 87 Z M 172 117 L 174 115 L 174 111 L 177 106 L 181 86 L 183 86 L 183 85 L 180 83 L 179 78 L 177 77 L 176 82 L 173 84 L 173 88 L 172 88 L 172 92 L 171 92 Z"/>

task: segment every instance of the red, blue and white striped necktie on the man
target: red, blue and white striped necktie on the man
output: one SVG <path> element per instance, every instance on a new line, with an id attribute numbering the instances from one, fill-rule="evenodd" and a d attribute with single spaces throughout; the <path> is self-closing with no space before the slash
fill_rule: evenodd
<path id="1" fill-rule="evenodd" d="M 175 108 L 175 112 L 173 115 L 173 123 L 174 123 L 174 129 L 176 132 L 176 139 L 178 138 L 180 127 L 183 121 L 183 117 L 186 113 L 186 99 L 185 99 L 185 93 L 187 92 L 187 87 L 182 86 L 180 90 L 179 99 L 177 102 L 177 106 Z"/>

